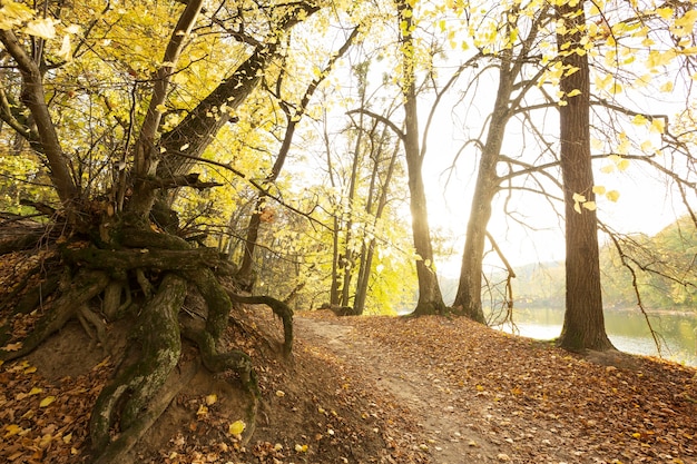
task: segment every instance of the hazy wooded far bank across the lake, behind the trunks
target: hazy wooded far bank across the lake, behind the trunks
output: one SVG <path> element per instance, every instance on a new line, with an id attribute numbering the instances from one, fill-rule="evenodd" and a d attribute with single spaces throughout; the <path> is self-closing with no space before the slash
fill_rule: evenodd
<path id="1" fill-rule="evenodd" d="M 637 288 L 647 308 L 697 310 L 697 229 L 691 218 L 681 217 L 655 236 L 625 235 L 618 238 L 625 263 L 635 272 Z M 518 307 L 563 307 L 565 263 L 548 261 L 518 266 L 512 280 Z M 600 249 L 603 305 L 607 308 L 635 307 L 637 297 L 632 274 L 622 264 L 613 241 Z M 490 282 L 499 283 L 503 273 Z M 443 296 L 454 298 L 458 279 L 441 279 Z M 485 293 L 485 292 L 484 292 Z M 484 305 L 490 300 L 489 294 Z M 494 299 L 495 305 L 495 299 Z"/>

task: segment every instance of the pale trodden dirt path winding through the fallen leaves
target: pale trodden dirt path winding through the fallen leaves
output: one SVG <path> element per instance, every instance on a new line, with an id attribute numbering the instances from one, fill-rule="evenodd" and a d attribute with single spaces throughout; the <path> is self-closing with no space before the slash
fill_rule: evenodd
<path id="1" fill-rule="evenodd" d="M 483 435 L 481 419 L 491 417 L 490 405 L 464 401 L 432 371 L 411 364 L 393 347 L 364 336 L 346 319 L 295 317 L 296 336 L 330 349 L 357 368 L 377 393 L 393 396 L 406 406 L 423 430 L 424 445 L 439 464 L 510 461 L 505 441 Z M 498 443 L 497 443 L 498 442 Z"/>

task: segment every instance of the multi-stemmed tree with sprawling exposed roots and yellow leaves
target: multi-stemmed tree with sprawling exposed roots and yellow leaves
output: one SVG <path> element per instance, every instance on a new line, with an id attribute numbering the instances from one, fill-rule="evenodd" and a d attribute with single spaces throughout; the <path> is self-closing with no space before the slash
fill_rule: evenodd
<path id="1" fill-rule="evenodd" d="M 101 318 L 90 308 L 92 299 L 101 298 L 109 322 L 130 315 L 139 329 L 132 332 L 131 347 L 138 353 L 129 359 L 135 361 L 121 365 L 95 404 L 90 419 L 94 462 L 120 462 L 161 414 L 181 383 L 195 373 L 196 363 L 186 364 L 180 359 L 183 338 L 198 348 L 198 356 L 208 371 L 239 373 L 252 398 L 247 422 L 253 425 L 258 388 L 251 358 L 239 351 L 222 353 L 217 346 L 228 324 L 230 300 L 272 306 L 284 322 L 286 351 L 292 346 L 292 312 L 273 298 L 240 297 L 224 288 L 214 269 L 227 269 L 226 261 L 215 248 L 196 247 L 178 236 L 176 217 L 167 210 L 167 204 L 171 205 L 175 197 L 170 195 L 173 190 L 218 185 L 192 174 L 192 167 L 200 161 L 217 132 L 234 120 L 230 113 L 243 105 L 269 62 L 277 57 L 284 43 L 282 37 L 320 11 L 320 7 L 304 2 L 259 6 L 244 12 L 233 11 L 232 16 L 226 16 L 225 9 L 205 11 L 203 1 L 197 0 L 156 8 L 159 19 L 168 18 L 169 8 L 177 11 L 176 23 L 173 23 L 169 20 L 153 21 L 153 14 L 138 14 L 137 11 L 111 11 L 107 6 L 102 16 L 86 22 L 85 37 L 71 49 L 70 36 L 75 30 L 68 24 L 79 23 L 87 17 L 88 7 L 57 9 L 58 13 L 65 14 L 58 18 L 50 16 L 49 10 L 36 12 L 11 1 L 2 4 L 12 7 L 1 10 L 0 41 L 7 52 L 2 57 L 6 72 L 13 75 L 10 81 L 14 86 L 2 89 L 0 117 L 48 166 L 48 177 L 59 203 L 57 206 L 35 206 L 43 213 L 51 213 L 52 227 L 62 230 L 59 236 L 48 234 L 41 239 L 51 246 L 52 259 L 62 265 L 52 268 L 62 269 L 60 279 L 63 284 L 53 295 L 51 309 L 43 313 L 33 332 L 21 340 L 21 347 L 0 351 L 0 358 L 14 359 L 30 353 L 69 319 L 77 317 L 89 322 L 102 337 L 102 345 L 110 346 Z M 66 26 L 57 27 L 58 20 Z M 129 61 L 137 53 L 129 55 L 128 48 L 104 48 L 108 47 L 105 37 L 118 28 L 124 28 L 119 32 L 126 32 L 119 36 L 119 40 L 131 33 L 153 37 L 153 43 L 140 46 L 140 50 L 147 52 L 158 49 L 157 38 L 163 37 L 161 30 L 170 28 L 170 33 L 163 43 L 165 50 L 160 57 L 146 55 L 146 61 L 148 58 L 151 61 L 137 63 Z M 195 36 L 192 33 L 194 28 L 207 29 L 209 33 Z M 62 41 L 56 40 L 57 30 L 62 34 Z M 247 30 L 254 32 L 247 33 Z M 183 50 L 186 47 L 197 51 L 206 49 L 214 43 L 208 41 L 213 36 L 225 39 L 218 47 L 232 46 L 232 57 L 243 58 L 199 100 L 189 99 L 188 106 L 177 108 L 180 118 L 174 118 L 171 125 L 164 124 L 167 106 L 180 97 L 176 90 L 181 82 L 177 86 L 173 82 L 179 73 L 187 72 L 178 67 Z M 117 49 L 124 55 L 117 55 Z M 213 55 L 216 55 L 215 49 L 204 51 L 204 57 Z M 110 60 L 99 61 L 102 56 Z M 95 70 L 90 69 L 92 67 Z M 96 85 L 98 80 L 94 79 L 94 72 L 104 69 L 124 69 L 109 78 L 120 79 L 121 86 L 117 88 L 130 88 L 125 92 L 126 96 L 130 93 L 130 110 L 115 109 L 112 103 L 117 97 L 111 89 Z M 78 79 L 76 75 L 79 75 Z M 76 87 L 72 82 L 89 83 Z M 63 109 L 61 112 L 62 107 L 51 103 L 73 98 L 71 92 L 80 92 L 79 102 L 90 101 L 107 115 L 88 119 L 92 125 L 87 131 L 91 138 L 69 138 L 71 134 L 63 132 L 57 124 L 68 111 Z M 82 116 L 82 120 L 85 118 Z M 116 128 L 122 130 L 119 134 L 125 139 L 115 146 L 115 151 L 108 152 L 114 147 L 99 146 L 90 140 L 97 130 L 105 134 L 112 130 L 105 127 L 111 120 L 117 121 Z M 132 141 L 130 137 L 135 134 Z M 91 148 L 91 157 L 73 156 L 65 148 L 68 145 L 79 147 L 76 154 Z M 95 162 L 97 154 L 104 156 L 104 162 L 88 166 L 88 159 Z M 78 167 L 80 164 L 85 166 Z M 234 170 L 226 164 L 218 166 Z M 86 179 L 84 172 L 96 174 Z M 164 216 L 171 219 L 167 225 L 170 231 L 153 230 L 156 226 L 150 218 L 156 200 L 164 205 L 160 207 Z M 206 302 L 204 323 L 178 317 L 189 286 L 196 288 Z M 177 375 L 180 363 L 181 375 Z M 253 428 L 249 426 L 248 431 Z"/>

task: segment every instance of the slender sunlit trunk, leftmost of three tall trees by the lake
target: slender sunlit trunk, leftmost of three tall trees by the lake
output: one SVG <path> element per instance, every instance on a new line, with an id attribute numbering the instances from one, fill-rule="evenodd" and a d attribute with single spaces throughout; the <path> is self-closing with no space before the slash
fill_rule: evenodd
<path id="1" fill-rule="evenodd" d="M 423 154 L 419 144 L 419 118 L 416 111 L 416 86 L 414 71 L 414 39 L 412 37 L 413 8 L 409 1 L 397 3 L 402 46 L 402 93 L 404 96 L 404 155 L 409 175 L 412 235 L 416 251 L 416 277 L 419 300 L 415 315 L 440 314 L 445 310 L 441 287 L 433 263 L 433 246 L 429 227 L 429 209 L 421 168 Z"/>

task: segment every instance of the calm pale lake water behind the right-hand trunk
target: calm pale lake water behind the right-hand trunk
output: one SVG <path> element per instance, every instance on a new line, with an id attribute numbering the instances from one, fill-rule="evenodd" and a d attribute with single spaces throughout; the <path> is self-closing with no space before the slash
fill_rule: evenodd
<path id="1" fill-rule="evenodd" d="M 697 314 L 650 314 L 649 320 L 661 344 L 661 355 L 690 366 L 697 366 Z M 563 310 L 514 309 L 510 325 L 494 328 L 537 339 L 556 338 L 561 334 Z M 605 325 L 612 344 L 620 351 L 658 356 L 656 344 L 639 310 L 606 310 Z"/>

